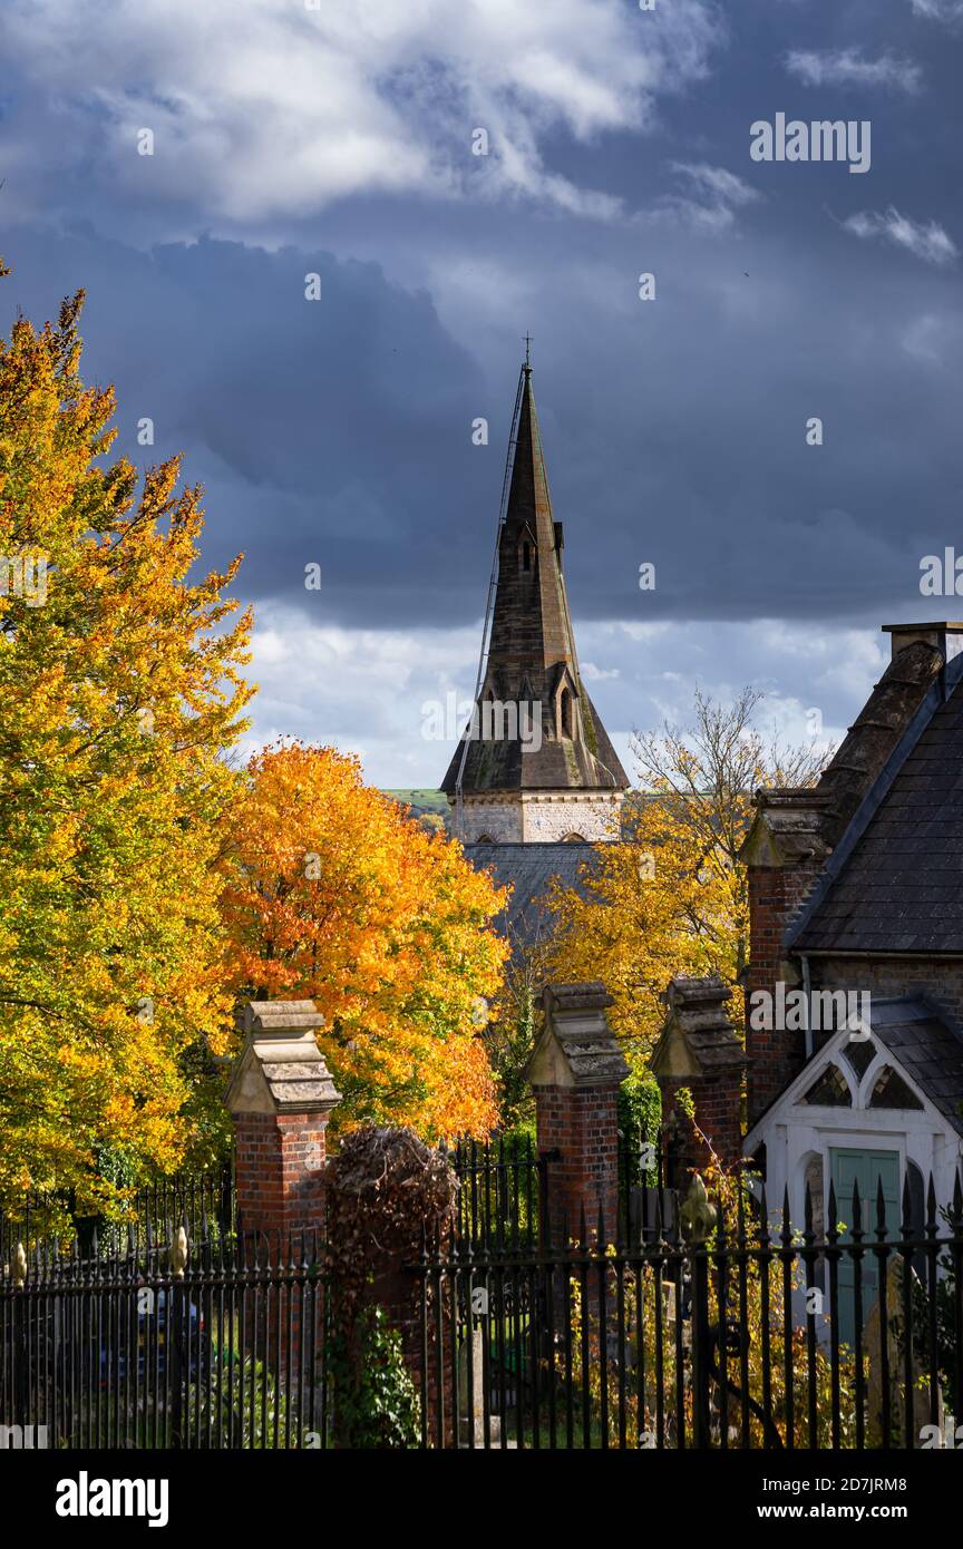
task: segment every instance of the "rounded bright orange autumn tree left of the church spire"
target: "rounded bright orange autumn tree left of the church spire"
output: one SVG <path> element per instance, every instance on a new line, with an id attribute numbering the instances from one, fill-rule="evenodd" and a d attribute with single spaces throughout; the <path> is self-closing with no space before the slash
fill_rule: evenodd
<path id="1" fill-rule="evenodd" d="M 356 759 L 288 744 L 259 753 L 224 823 L 237 996 L 307 996 L 342 1103 L 336 1125 L 406 1123 L 426 1139 L 495 1118 L 482 1033 L 505 943 L 505 894 Z"/>

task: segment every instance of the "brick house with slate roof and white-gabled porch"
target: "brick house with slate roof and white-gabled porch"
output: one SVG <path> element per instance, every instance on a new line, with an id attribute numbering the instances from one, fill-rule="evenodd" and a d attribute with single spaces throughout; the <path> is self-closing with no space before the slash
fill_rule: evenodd
<path id="1" fill-rule="evenodd" d="M 749 872 L 743 1154 L 816 1230 L 882 1191 L 920 1224 L 963 1157 L 963 623 L 890 663 L 819 784 L 762 790 Z M 870 1204 L 872 1202 L 872 1204 Z M 864 1216 L 865 1219 L 865 1216 Z"/>

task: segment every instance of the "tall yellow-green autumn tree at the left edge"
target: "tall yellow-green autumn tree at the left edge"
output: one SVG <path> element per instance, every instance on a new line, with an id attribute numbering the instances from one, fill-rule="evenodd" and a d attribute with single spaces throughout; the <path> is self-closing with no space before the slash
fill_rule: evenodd
<path id="1" fill-rule="evenodd" d="M 178 463 L 104 462 L 82 296 L 0 339 L 0 1197 L 173 1168 L 226 1049 L 217 981 L 221 754 L 249 620 L 187 579 L 203 527 Z M 139 493 L 138 493 L 139 488 Z"/>

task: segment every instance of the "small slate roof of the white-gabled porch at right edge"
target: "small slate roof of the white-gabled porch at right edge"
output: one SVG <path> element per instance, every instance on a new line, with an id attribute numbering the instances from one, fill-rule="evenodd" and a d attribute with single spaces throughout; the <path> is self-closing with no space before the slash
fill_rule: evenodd
<path id="1" fill-rule="evenodd" d="M 963 1134 L 963 1030 L 924 996 L 873 996 L 869 1025 L 876 1042 Z"/>

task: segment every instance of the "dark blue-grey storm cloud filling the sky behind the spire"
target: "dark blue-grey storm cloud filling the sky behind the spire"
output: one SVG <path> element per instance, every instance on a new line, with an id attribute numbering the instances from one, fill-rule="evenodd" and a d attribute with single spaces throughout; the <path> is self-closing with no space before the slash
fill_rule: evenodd
<path id="1" fill-rule="evenodd" d="M 305 565 L 319 564 L 313 620 L 478 617 L 526 330 L 581 617 L 921 610 L 920 559 L 957 534 L 963 547 L 961 108 L 952 34 L 924 9 L 746 0 L 728 50 L 721 28 L 715 51 L 703 31 L 644 130 L 630 73 L 604 110 L 579 79 L 571 121 L 551 122 L 502 198 L 491 180 L 485 197 L 429 198 L 412 173 L 390 198 L 368 178 L 364 198 L 324 214 L 282 200 L 248 218 L 224 163 L 217 228 L 238 240 L 132 245 L 163 214 L 181 231 L 211 225 L 211 146 L 192 201 L 180 144 L 184 186 L 158 173 L 152 212 L 147 173 L 110 197 L 90 127 L 59 180 L 51 143 L 53 223 L 3 235 L 15 276 L 0 301 L 8 319 L 17 305 L 43 318 L 88 288 L 87 369 L 118 383 L 119 448 L 141 463 L 184 452 L 207 486 L 204 558 L 243 548 L 248 595 L 305 607 Z M 147 54 L 142 40 L 144 71 Z M 870 118 L 870 172 L 752 163 L 749 124 L 777 112 Z M 37 105 L 29 122 L 48 132 Z M 610 218 L 587 218 L 596 195 Z M 636 296 L 643 271 L 655 302 Z M 142 415 L 153 451 L 136 445 Z M 472 445 L 478 417 L 486 448 Z M 824 446 L 807 446 L 810 417 Z M 653 593 L 638 590 L 643 561 Z"/>

